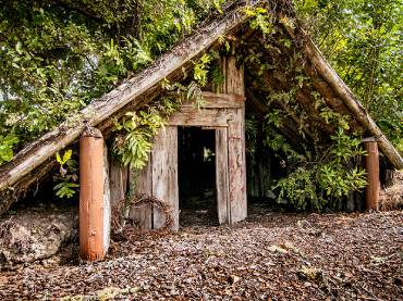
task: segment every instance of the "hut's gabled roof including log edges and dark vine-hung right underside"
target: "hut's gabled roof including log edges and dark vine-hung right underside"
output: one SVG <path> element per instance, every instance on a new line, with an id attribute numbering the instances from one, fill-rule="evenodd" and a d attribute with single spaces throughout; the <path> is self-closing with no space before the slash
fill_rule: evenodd
<path id="1" fill-rule="evenodd" d="M 271 2 L 276 3 L 276 7 L 271 5 Z M 267 45 L 262 42 L 261 34 L 258 30 L 251 30 L 249 26 L 245 26 L 247 17 L 243 9 L 246 4 L 249 7 L 266 5 L 273 15 L 273 22 L 280 27 L 279 33 L 272 39 L 290 39 L 294 47 L 282 47 L 280 49 L 280 43 L 277 47 L 265 47 Z M 332 130 L 325 123 L 320 123 L 320 115 L 315 109 L 312 97 L 312 92 L 316 91 L 321 95 L 331 110 L 352 116 L 352 128 L 376 137 L 381 151 L 392 166 L 403 168 L 403 160 L 399 152 L 378 128 L 349 87 L 326 62 L 310 38 L 296 23 L 290 26 L 290 23 L 286 22 L 294 17 L 290 5 L 288 0 L 234 1 L 228 4 L 222 14 L 202 24 L 194 35 L 185 38 L 169 52 L 161 55 L 148 68 L 134 75 L 85 108 L 74 118 L 74 126 L 71 125 L 71 122 L 65 122 L 29 143 L 11 162 L 0 168 L 0 213 L 8 210 L 28 187 L 49 173 L 54 166 L 54 154 L 76 141 L 86 126 L 95 126 L 105 130 L 111 126 L 110 120 L 112 116 L 120 116 L 122 112 L 135 110 L 154 100 L 162 92 L 161 85 L 159 85 L 161 80 L 166 78 L 170 81 L 179 80 L 183 74 L 183 68 L 190 70 L 193 66 L 192 61 L 194 59 L 217 47 L 220 37 L 230 35 L 241 37 L 237 41 L 240 51 L 253 51 L 253 49 L 258 48 L 261 54 L 260 61 L 271 62 L 273 65 L 276 65 L 276 61 L 290 62 L 288 58 L 295 58 L 297 52 L 295 49 L 298 48 L 302 53 L 301 72 L 312 78 L 313 85 L 302 86 L 296 98 L 301 106 L 306 110 L 309 118 L 318 120 L 318 124 L 322 125 L 325 133 Z M 245 63 L 246 81 L 248 77 L 254 77 L 258 68 L 258 63 Z M 288 70 L 281 67 L 266 71 L 262 76 L 264 83 L 260 83 L 259 87 L 256 87 L 256 83 L 248 83 L 247 101 L 254 103 L 257 111 L 265 112 L 268 108 L 260 101 L 265 92 L 268 90 L 288 90 L 290 78 L 294 76 L 295 74 L 290 74 Z M 278 105 L 281 108 L 281 102 Z M 298 122 L 301 121 L 296 116 L 290 114 L 290 125 L 284 126 L 284 133 L 289 133 L 289 136 L 297 134 L 292 128 L 297 128 Z M 309 134 L 308 129 L 307 133 Z"/>

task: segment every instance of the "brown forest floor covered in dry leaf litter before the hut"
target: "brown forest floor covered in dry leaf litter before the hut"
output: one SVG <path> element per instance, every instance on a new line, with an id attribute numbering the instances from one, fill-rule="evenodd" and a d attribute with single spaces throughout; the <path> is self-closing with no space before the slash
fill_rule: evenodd
<path id="1" fill-rule="evenodd" d="M 93 264 L 0 272 L 1 300 L 402 300 L 403 212 L 282 214 L 130 235 Z"/>

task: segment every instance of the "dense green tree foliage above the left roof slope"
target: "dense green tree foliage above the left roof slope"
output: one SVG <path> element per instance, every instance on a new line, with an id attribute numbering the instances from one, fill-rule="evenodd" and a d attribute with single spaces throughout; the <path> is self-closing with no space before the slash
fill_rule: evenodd
<path id="1" fill-rule="evenodd" d="M 149 64 L 222 2 L 3 1 L 0 135 L 19 142 L 0 145 L 0 164 Z M 204 80 L 203 68 L 196 77 Z"/>

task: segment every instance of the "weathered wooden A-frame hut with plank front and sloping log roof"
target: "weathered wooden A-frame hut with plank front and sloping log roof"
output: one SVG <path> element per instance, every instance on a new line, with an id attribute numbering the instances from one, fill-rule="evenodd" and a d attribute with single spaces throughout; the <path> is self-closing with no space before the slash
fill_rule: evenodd
<path id="1" fill-rule="evenodd" d="M 200 109 L 184 103 L 181 110 L 169 118 L 168 125 L 155 139 L 150 160 L 142 171 L 136 187 L 130 187 L 133 183 L 132 171 L 115 162 L 108 163 L 110 192 L 105 193 L 110 193 L 112 202 L 124 198 L 130 189 L 154 196 L 172 205 L 173 228 L 178 229 L 178 128 L 196 126 L 213 130 L 215 135 L 219 223 L 232 224 L 244 220 L 247 215 L 245 104 L 251 105 L 257 115 L 265 115 L 270 110 L 264 101 L 265 91 L 286 91 L 295 86 L 292 84 L 295 83 L 295 74 L 289 73 L 285 67 L 294 62 L 300 62 L 301 76 L 310 78 L 312 83 L 297 87 L 296 102 L 307 112 L 308 118 L 320 124 L 320 130 L 325 135 L 329 135 L 333 129 L 320 122 L 314 92 L 320 95 L 332 111 L 350 115 L 352 129 L 376 137 L 389 165 L 402 168 L 403 160 L 400 153 L 298 26 L 289 1 L 277 1 L 276 7 L 271 2 L 229 3 L 223 8 L 222 14 L 200 24 L 195 34 L 183 39 L 149 67 L 93 101 L 76 116 L 74 125 L 71 122 L 63 123 L 28 145 L 0 170 L 0 213 L 26 195 L 30 187 L 46 179 L 56 167 L 54 154 L 77 141 L 86 128 L 95 127 L 105 137 L 110 136 L 113 117 L 121 117 L 125 112 L 139 110 L 145 104 L 158 100 L 166 92 L 161 81 L 181 81 L 183 74 L 192 70 L 195 60 L 206 51 L 221 47 L 222 37 L 228 38 L 232 49 L 231 53 L 221 53 L 217 62 L 224 75 L 222 85 L 215 89 L 207 86 L 203 91 L 205 102 Z M 277 33 L 271 38 L 271 45 L 264 41 L 261 30 L 248 24 L 245 8 L 256 7 L 265 7 L 272 16 L 271 22 L 277 27 Z M 259 54 L 259 61 L 236 61 L 239 52 L 255 50 Z M 261 62 L 273 67 L 261 70 Z M 257 72 L 262 73 L 264 78 L 259 86 L 252 80 Z M 276 105 L 284 108 L 281 101 Z M 297 143 L 302 121 L 293 114 L 289 114 L 288 118 L 281 130 L 285 137 Z M 306 134 L 309 135 L 309 130 Z M 137 218 L 144 228 L 158 228 L 164 224 L 164 215 L 151 205 L 134 208 L 130 214 Z"/>

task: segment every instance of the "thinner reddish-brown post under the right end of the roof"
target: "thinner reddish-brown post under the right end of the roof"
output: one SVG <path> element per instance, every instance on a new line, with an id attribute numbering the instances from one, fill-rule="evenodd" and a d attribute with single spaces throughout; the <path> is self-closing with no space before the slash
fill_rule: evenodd
<path id="1" fill-rule="evenodd" d="M 366 205 L 367 210 L 378 210 L 380 192 L 378 142 L 375 138 L 364 139 L 363 142 L 365 145 L 365 150 L 367 151 L 365 160 L 368 180 L 366 189 Z"/>

